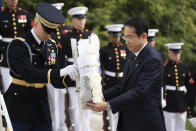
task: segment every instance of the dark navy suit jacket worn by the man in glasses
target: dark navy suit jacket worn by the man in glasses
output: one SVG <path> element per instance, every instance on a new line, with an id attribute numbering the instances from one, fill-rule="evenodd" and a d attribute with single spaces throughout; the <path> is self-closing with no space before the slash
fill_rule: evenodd
<path id="1" fill-rule="evenodd" d="M 166 131 L 161 107 L 163 63 L 147 44 L 128 58 L 123 83 L 104 91 L 112 112 L 119 112 L 118 131 Z"/>

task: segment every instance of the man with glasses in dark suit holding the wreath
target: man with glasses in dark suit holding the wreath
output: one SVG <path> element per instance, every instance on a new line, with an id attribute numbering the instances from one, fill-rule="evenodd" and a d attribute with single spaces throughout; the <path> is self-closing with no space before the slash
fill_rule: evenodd
<path id="1" fill-rule="evenodd" d="M 87 103 L 93 111 L 119 112 L 118 131 L 166 131 L 161 109 L 163 63 L 147 37 L 148 27 L 141 17 L 125 23 L 123 38 L 132 54 L 123 83 L 104 91 L 106 102 Z"/>

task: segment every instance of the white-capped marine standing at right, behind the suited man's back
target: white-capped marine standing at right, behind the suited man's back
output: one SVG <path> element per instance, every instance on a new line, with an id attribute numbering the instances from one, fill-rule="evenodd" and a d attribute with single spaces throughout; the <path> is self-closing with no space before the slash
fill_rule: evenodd
<path id="1" fill-rule="evenodd" d="M 189 83 L 189 69 L 180 61 L 183 43 L 169 43 L 169 61 L 164 69 L 166 107 L 163 108 L 167 131 L 184 131 L 186 124 L 186 94 Z"/>

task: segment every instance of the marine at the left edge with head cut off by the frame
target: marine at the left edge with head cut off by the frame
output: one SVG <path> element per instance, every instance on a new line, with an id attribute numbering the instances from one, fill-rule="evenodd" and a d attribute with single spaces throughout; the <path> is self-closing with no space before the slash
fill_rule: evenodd
<path id="1" fill-rule="evenodd" d="M 29 13 L 17 8 L 18 0 L 4 0 L 6 8 L 2 7 L 2 20 L 0 21 L 0 73 L 3 79 L 3 92 L 5 93 L 11 83 L 9 68 L 6 62 L 6 49 L 14 38 L 25 34 L 31 29 Z"/>

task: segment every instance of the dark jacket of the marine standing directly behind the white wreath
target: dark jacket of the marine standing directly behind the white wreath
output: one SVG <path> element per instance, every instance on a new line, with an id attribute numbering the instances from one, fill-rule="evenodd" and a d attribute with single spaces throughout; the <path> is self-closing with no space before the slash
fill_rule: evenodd
<path id="1" fill-rule="evenodd" d="M 91 32 L 88 29 L 83 29 L 82 31 L 79 31 L 75 28 L 70 30 L 65 37 L 62 38 L 62 49 L 64 53 L 67 56 L 67 64 L 73 64 L 73 57 L 72 57 L 72 49 L 71 49 L 71 39 L 76 39 L 79 41 L 80 39 L 88 39 L 88 37 L 91 35 Z M 75 87 L 76 83 L 72 81 L 69 76 L 66 77 L 66 84 L 68 87 Z"/>

